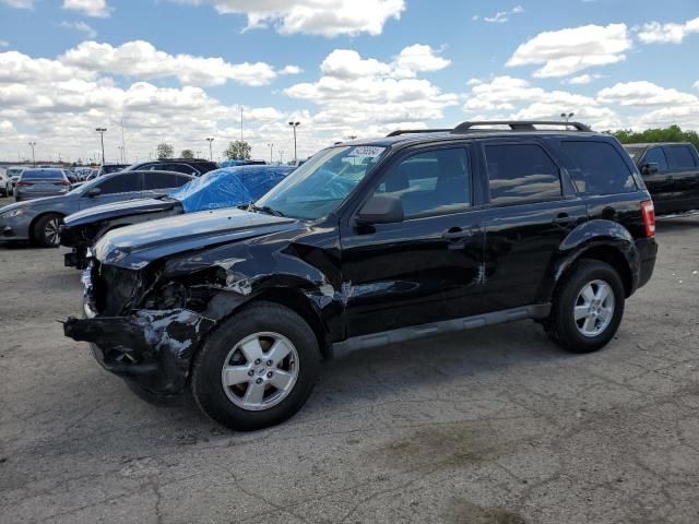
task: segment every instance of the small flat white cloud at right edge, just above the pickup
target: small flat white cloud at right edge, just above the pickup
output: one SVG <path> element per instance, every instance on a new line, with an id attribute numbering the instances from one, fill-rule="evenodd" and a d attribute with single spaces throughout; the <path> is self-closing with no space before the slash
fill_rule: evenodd
<path id="1" fill-rule="evenodd" d="M 597 93 L 597 100 L 603 104 L 616 103 L 636 107 L 699 104 L 699 98 L 692 94 L 661 87 L 648 81 L 621 82 L 605 87 Z"/>

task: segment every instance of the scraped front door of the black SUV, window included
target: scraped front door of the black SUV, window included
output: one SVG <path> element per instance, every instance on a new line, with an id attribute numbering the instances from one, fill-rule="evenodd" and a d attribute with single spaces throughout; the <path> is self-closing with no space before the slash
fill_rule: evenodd
<path id="1" fill-rule="evenodd" d="M 347 336 L 479 310 L 483 211 L 474 209 L 469 148 L 406 153 L 370 194 L 401 199 L 396 224 L 341 234 Z"/>

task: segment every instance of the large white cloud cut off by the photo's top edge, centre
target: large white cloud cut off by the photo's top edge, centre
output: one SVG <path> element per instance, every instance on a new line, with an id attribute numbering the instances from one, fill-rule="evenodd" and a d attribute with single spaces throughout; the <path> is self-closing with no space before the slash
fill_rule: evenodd
<path id="1" fill-rule="evenodd" d="M 244 14 L 248 29 L 273 26 L 281 34 L 380 35 L 390 19 L 399 20 L 405 0 L 175 0 L 213 5 L 222 14 Z"/>

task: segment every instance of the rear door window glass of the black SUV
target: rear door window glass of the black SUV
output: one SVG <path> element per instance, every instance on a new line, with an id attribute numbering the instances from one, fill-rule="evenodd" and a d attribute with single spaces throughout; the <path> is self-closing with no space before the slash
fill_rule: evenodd
<path id="1" fill-rule="evenodd" d="M 558 167 L 541 146 L 486 145 L 485 157 L 491 204 L 511 205 L 561 198 Z"/>

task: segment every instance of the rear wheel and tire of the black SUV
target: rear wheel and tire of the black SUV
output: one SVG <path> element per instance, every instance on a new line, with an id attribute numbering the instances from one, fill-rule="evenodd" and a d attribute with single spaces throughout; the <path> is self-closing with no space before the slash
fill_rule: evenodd
<path id="1" fill-rule="evenodd" d="M 608 298 L 600 301 L 605 285 L 612 294 L 612 301 Z M 596 352 L 612 340 L 619 327 L 624 301 L 624 284 L 614 267 L 597 260 L 579 260 L 556 287 L 552 312 L 544 322 L 544 329 L 567 352 Z"/>

